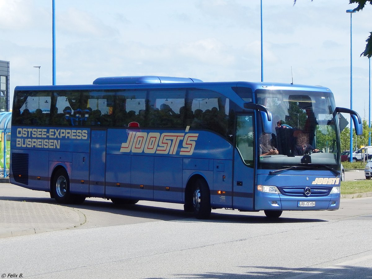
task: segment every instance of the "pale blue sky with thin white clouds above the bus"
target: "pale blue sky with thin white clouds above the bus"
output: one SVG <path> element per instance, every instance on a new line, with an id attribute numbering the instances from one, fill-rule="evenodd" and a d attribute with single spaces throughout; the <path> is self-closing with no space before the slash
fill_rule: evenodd
<path id="1" fill-rule="evenodd" d="M 263 0 L 263 80 L 321 85 L 350 108 L 349 0 Z M 105 76 L 261 81 L 260 0 L 55 0 L 56 83 Z M 369 118 L 372 6 L 352 15 L 353 109 Z M 0 0 L 15 86 L 52 84 L 52 0 Z M 346 115 L 345 115 L 346 116 Z"/>

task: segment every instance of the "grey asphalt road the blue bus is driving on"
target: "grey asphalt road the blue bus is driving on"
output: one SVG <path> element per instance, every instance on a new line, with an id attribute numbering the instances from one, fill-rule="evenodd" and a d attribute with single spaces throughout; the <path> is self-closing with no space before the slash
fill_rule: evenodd
<path id="1" fill-rule="evenodd" d="M 54 205 L 47 193 L 17 191 L 26 202 Z M 88 199 L 74 210 L 86 217 L 77 228 L 1 238 L 0 275 L 79 279 L 372 276 L 372 197 L 342 199 L 337 211 L 284 212 L 278 221 L 267 220 L 262 212 L 223 209 L 212 211 L 211 220 L 199 221 L 185 214 L 182 205 L 140 202 L 117 208 L 103 199 Z"/>

